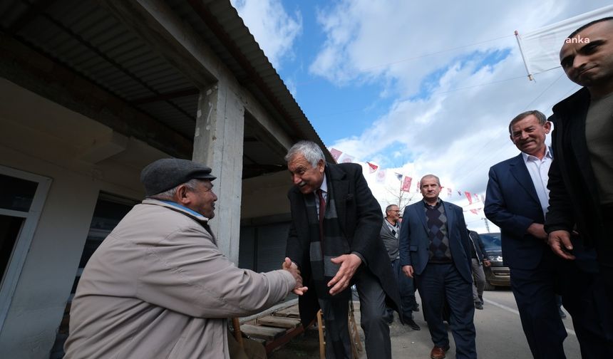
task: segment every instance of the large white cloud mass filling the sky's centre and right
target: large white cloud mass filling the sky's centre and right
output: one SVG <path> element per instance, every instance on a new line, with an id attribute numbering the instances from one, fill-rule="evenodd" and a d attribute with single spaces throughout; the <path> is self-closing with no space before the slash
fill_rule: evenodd
<path id="1" fill-rule="evenodd" d="M 559 1 L 481 1 L 472 9 L 449 2 L 442 12 L 436 6 L 356 0 L 320 10 L 327 37 L 309 70 L 340 86 L 383 83 L 383 92 L 396 98 L 361 135 L 341 137 L 330 147 L 409 175 L 413 183 L 436 174 L 453 189 L 450 200 L 466 208 L 468 199 L 457 191 L 485 194 L 489 167 L 518 153 L 508 138 L 510 119 L 531 109 L 550 115 L 552 105 L 578 89 L 560 69 L 528 81 L 512 31 L 533 30 L 589 9 Z M 505 35 L 510 36 L 488 41 Z M 471 43 L 477 44 L 463 46 Z M 453 50 L 441 52 L 445 49 Z M 430 53 L 438 54 L 423 56 Z M 487 60 L 497 53 L 507 56 Z M 398 158 L 406 159 L 402 167 Z M 389 183 L 365 175 L 382 207 L 393 202 Z M 389 181 L 400 185 L 393 176 Z M 419 194 L 413 197 L 418 199 Z M 465 212 L 465 217 L 485 230 L 483 212 Z"/>

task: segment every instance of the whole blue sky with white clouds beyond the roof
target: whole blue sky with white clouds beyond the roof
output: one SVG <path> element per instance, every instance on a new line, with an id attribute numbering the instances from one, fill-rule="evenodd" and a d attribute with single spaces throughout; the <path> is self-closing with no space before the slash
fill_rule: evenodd
<path id="1" fill-rule="evenodd" d="M 529 81 L 520 34 L 609 5 L 605 0 L 408 1 L 232 0 L 327 147 L 364 165 L 385 206 L 397 202 L 394 172 L 428 173 L 453 189 L 485 231 L 480 204 L 490 166 L 519 152 L 508 137 L 518 113 L 578 90 L 560 68 Z M 561 45 L 561 44 L 560 44 Z M 366 161 L 386 170 L 384 183 Z M 490 230 L 496 231 L 490 223 Z"/>

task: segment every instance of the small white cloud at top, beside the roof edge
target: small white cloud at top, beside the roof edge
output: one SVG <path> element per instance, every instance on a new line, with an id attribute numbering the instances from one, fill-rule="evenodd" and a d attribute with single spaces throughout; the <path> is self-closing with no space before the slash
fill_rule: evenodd
<path id="1" fill-rule="evenodd" d="M 302 14 L 288 14 L 280 0 L 231 0 L 249 32 L 272 66 L 279 71 L 282 58 L 293 56 L 294 40 L 302 33 Z"/>

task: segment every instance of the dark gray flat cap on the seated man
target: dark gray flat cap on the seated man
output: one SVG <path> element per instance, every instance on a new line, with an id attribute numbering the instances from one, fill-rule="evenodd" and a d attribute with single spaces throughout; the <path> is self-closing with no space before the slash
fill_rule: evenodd
<path id="1" fill-rule="evenodd" d="M 163 158 L 150 163 L 140 172 L 140 182 L 145 185 L 145 196 L 168 191 L 179 184 L 197 178 L 198 180 L 215 180 L 211 169 L 190 160 L 180 158 Z"/>

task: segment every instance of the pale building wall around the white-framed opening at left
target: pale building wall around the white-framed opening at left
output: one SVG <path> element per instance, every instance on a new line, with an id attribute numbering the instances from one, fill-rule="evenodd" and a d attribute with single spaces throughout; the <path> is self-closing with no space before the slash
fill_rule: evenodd
<path id="1" fill-rule="evenodd" d="M 0 80 L 0 98 L 0 165 L 53 180 L 1 328 L 0 353 L 2 358 L 46 359 L 99 192 L 143 198 L 140 170 L 168 156 L 125 139 L 118 141 L 119 150 L 110 152 L 115 155 L 86 162 L 83 155 L 100 145 L 101 137 L 109 138 L 109 128 L 6 80 Z"/>

